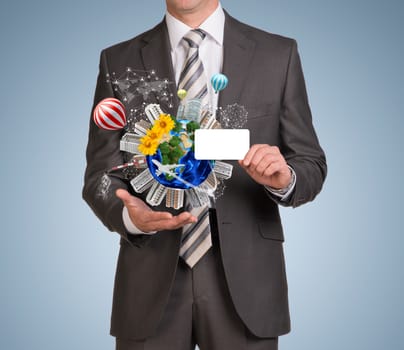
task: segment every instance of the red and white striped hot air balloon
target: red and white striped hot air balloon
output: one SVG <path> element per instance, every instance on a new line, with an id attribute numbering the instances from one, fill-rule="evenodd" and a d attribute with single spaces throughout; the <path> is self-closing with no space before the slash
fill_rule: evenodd
<path id="1" fill-rule="evenodd" d="M 101 129 L 122 129 L 126 124 L 125 107 L 116 98 L 105 98 L 95 107 L 93 119 Z"/>

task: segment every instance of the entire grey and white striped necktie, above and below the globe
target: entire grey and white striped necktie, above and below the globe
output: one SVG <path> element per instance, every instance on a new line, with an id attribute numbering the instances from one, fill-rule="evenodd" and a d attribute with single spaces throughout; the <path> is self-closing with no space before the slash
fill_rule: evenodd
<path id="1" fill-rule="evenodd" d="M 199 58 L 199 45 L 205 36 L 202 30 L 193 29 L 183 37 L 189 48 L 178 84 L 179 89 L 187 91 L 187 99 L 200 99 L 202 105 L 208 102 L 206 76 Z M 184 226 L 180 256 L 190 268 L 193 268 L 212 246 L 212 238 L 208 206 L 193 208 L 191 214 L 196 216 L 198 221 Z"/>

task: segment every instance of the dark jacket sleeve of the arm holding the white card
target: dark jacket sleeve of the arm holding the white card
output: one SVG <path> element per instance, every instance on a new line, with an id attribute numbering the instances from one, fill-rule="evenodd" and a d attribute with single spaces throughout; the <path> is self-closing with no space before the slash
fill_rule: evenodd
<path id="1" fill-rule="evenodd" d="M 280 149 L 296 172 L 296 185 L 284 206 L 312 201 L 324 183 L 327 166 L 314 127 L 296 41 L 292 41 L 280 115 Z"/>

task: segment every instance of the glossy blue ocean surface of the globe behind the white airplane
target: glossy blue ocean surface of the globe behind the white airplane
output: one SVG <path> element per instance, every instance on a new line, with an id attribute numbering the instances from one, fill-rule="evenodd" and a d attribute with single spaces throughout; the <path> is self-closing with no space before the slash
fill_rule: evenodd
<path id="1" fill-rule="evenodd" d="M 155 155 L 147 156 L 147 165 L 153 177 L 162 185 L 170 188 L 187 190 L 192 187 L 199 186 L 204 182 L 211 173 L 214 161 L 212 160 L 197 160 L 193 151 L 188 151 L 179 160 L 178 164 L 183 164 L 183 167 L 177 167 L 171 171 L 184 180 L 173 178 L 168 180 L 165 174 L 157 175 L 158 167 L 153 163 L 153 159 L 162 162 L 161 152 L 158 150 Z"/>

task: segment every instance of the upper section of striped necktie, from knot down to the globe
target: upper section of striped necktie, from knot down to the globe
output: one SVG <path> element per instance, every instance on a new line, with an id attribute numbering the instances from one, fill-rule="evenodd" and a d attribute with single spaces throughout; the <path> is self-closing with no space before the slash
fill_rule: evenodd
<path id="1" fill-rule="evenodd" d="M 202 106 L 208 103 L 207 80 L 199 58 L 199 45 L 205 37 L 206 34 L 200 29 L 190 30 L 183 37 L 188 46 L 188 54 L 178 83 L 179 89 L 187 91 L 187 99 L 200 99 Z"/>

